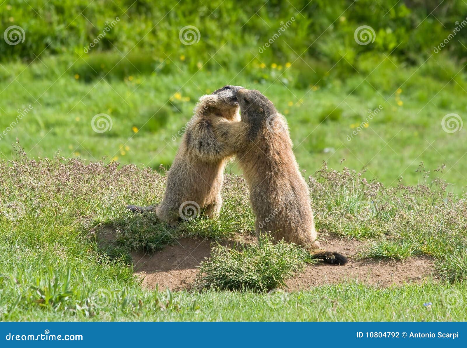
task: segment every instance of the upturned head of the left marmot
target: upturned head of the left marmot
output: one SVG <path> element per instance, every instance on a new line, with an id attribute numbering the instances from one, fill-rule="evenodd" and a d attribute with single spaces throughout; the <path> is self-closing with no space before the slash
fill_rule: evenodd
<path id="1" fill-rule="evenodd" d="M 242 88 L 242 86 L 226 85 L 212 94 L 203 95 L 199 98 L 195 114 L 207 111 L 232 119 L 235 114 L 238 114 L 239 105 L 236 92 Z"/>

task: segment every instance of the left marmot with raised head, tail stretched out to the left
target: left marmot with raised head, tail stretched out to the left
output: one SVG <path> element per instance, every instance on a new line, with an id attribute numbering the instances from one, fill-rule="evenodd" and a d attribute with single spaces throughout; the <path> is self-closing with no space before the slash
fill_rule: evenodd
<path id="1" fill-rule="evenodd" d="M 162 202 L 159 206 L 127 206 L 128 209 L 156 210 L 157 218 L 171 227 L 178 220 L 188 220 L 199 213 L 210 218 L 219 213 L 224 167 L 234 152 L 216 139 L 212 126 L 219 120 L 240 120 L 235 92 L 242 88 L 226 85 L 199 98 L 170 167 Z"/>

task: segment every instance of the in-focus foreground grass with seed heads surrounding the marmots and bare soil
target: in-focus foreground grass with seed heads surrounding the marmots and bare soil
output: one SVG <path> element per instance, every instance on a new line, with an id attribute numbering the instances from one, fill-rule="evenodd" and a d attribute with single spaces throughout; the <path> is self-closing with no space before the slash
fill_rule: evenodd
<path id="1" fill-rule="evenodd" d="M 323 167 L 309 187 L 321 234 L 359 239 L 365 257 L 430 256 L 437 281 L 386 289 L 350 282 L 290 294 L 258 293 L 254 289 L 280 288 L 310 261 L 293 245 L 262 242 L 215 249 L 202 265 L 201 284 L 218 290 L 170 293 L 140 288 L 132 275 L 131 250 L 161 249 L 180 236 L 222 240 L 252 234 L 243 178 L 226 176 L 218 220 L 194 219 L 170 229 L 125 209 L 127 203 L 162 199 L 163 172 L 60 157 L 33 160 L 21 148 L 16 151 L 14 161 L 0 165 L 2 320 L 466 319 L 466 201 L 456 200 L 436 178 L 426 178 L 427 185 L 401 182 L 384 188 L 359 173 Z M 355 209 L 357 201 L 370 203 Z M 362 214 L 371 206 L 374 211 Z M 240 217 L 235 224 L 232 216 Z M 102 245 L 96 231 L 110 227 L 117 238 Z M 429 308 L 423 305 L 428 302 Z"/>

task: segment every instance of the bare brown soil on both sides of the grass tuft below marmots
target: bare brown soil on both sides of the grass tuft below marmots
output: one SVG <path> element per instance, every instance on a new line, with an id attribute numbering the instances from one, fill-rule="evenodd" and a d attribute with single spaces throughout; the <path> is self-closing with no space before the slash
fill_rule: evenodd
<path id="1" fill-rule="evenodd" d="M 255 242 L 247 239 L 244 242 Z M 226 241 L 224 244 L 230 244 Z M 152 255 L 133 253 L 135 274 L 142 278 L 142 286 L 154 289 L 168 287 L 170 290 L 189 288 L 198 274 L 198 266 L 206 257 L 211 256 L 212 241 L 182 238 L 176 245 L 167 246 Z M 375 286 L 389 286 L 406 282 L 421 282 L 433 271 L 433 263 L 427 257 L 417 257 L 405 262 L 355 260 L 361 243 L 328 239 L 322 244 L 326 249 L 336 250 L 349 256 L 344 266 L 327 264 L 308 265 L 297 277 L 286 284 L 290 291 L 306 290 L 322 284 L 335 284 L 343 280 L 358 280 Z"/>

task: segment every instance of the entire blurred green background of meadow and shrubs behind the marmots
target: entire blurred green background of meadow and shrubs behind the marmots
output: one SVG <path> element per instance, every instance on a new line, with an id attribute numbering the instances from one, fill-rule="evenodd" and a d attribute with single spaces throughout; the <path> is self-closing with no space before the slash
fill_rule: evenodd
<path id="1" fill-rule="evenodd" d="M 276 104 L 309 172 L 327 161 L 413 184 L 420 162 L 445 164 L 439 176 L 460 192 L 466 129 L 441 122 L 466 117 L 466 17 L 462 0 L 7 0 L 2 31 L 20 26 L 24 41 L 0 40 L 0 156 L 18 138 L 30 156 L 168 167 L 199 96 L 234 84 Z M 363 25 L 374 31 L 365 45 Z M 189 45 L 186 26 L 199 33 Z M 112 128 L 94 132 L 96 114 Z"/>

